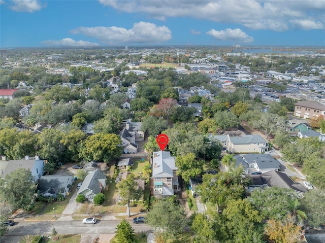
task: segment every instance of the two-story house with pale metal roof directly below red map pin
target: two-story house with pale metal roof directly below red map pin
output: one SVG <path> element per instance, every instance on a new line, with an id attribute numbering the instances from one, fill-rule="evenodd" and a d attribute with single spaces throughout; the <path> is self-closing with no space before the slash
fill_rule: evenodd
<path id="1" fill-rule="evenodd" d="M 155 197 L 173 196 L 178 191 L 176 157 L 172 157 L 169 151 L 153 152 L 152 178 L 153 194 Z"/>

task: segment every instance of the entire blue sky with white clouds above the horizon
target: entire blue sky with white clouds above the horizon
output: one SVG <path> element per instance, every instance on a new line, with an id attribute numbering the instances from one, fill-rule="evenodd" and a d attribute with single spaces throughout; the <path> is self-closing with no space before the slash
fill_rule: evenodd
<path id="1" fill-rule="evenodd" d="M 325 46 L 325 0 L 0 0 L 0 47 Z"/>

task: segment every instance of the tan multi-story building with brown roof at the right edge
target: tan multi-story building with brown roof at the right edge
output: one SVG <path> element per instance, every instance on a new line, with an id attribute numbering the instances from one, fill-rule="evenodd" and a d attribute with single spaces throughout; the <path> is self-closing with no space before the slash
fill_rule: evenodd
<path id="1" fill-rule="evenodd" d="M 313 101 L 300 101 L 295 103 L 294 115 L 302 118 L 312 119 L 320 115 L 325 116 L 325 106 Z"/>

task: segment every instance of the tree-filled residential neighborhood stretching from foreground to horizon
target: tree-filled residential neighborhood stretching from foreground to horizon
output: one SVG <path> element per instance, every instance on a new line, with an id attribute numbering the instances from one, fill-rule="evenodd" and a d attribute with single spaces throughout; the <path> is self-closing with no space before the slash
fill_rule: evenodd
<path id="1" fill-rule="evenodd" d="M 0 242 L 119 242 L 122 224 L 132 242 L 280 242 L 273 223 L 324 237 L 324 54 L 250 50 L 8 50 Z"/>

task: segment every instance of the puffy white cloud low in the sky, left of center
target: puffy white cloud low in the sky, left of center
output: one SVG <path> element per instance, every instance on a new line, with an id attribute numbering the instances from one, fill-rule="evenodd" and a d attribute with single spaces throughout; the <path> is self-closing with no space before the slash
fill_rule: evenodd
<path id="1" fill-rule="evenodd" d="M 172 32 L 168 27 L 148 22 L 134 23 L 132 29 L 98 26 L 78 27 L 70 32 L 96 38 L 104 44 L 161 43 L 172 39 Z"/>

